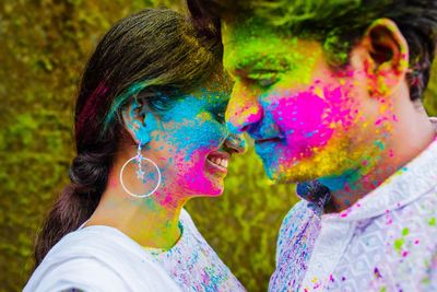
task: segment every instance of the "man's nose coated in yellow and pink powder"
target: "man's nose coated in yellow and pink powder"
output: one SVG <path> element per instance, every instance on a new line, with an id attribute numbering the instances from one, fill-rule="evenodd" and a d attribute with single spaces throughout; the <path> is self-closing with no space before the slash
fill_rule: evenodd
<path id="1" fill-rule="evenodd" d="M 231 133 L 241 133 L 262 119 L 262 106 L 258 94 L 247 86 L 235 85 L 226 108 L 226 121 Z"/>

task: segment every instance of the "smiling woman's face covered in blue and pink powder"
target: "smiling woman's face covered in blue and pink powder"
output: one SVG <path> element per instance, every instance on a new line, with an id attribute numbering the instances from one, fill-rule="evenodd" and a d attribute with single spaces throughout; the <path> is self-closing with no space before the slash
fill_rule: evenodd
<path id="1" fill-rule="evenodd" d="M 175 102 L 158 118 L 154 116 L 156 122 L 145 117 L 154 129 L 143 155 L 161 170 L 158 191 L 168 196 L 164 201 L 223 192 L 231 155 L 246 148 L 243 137 L 229 136 L 225 126 L 227 102 L 228 94 L 200 90 Z"/>

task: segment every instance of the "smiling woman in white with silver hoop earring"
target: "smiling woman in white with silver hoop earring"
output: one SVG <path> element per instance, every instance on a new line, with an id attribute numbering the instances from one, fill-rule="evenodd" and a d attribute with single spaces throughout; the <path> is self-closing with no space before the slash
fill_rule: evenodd
<path id="1" fill-rule="evenodd" d="M 224 125 L 229 84 L 208 33 L 144 10 L 103 37 L 76 101 L 72 183 L 24 291 L 244 291 L 182 209 L 221 195 L 245 149 Z"/>

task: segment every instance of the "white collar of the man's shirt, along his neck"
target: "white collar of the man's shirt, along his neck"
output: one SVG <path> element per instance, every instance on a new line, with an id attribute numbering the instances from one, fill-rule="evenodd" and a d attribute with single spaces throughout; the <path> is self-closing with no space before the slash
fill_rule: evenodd
<path id="1" fill-rule="evenodd" d="M 430 119 L 437 126 L 437 119 Z M 356 221 L 373 218 L 416 200 L 437 185 L 437 139 L 418 156 L 390 176 L 382 185 L 340 212 L 323 214 L 326 220 Z"/>

